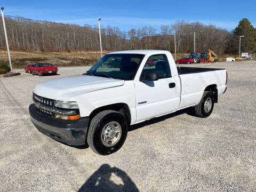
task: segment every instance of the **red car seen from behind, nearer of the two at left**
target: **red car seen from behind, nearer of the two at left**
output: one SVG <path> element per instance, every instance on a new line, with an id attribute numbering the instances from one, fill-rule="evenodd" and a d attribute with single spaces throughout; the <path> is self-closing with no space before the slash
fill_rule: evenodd
<path id="1" fill-rule="evenodd" d="M 58 68 L 54 67 L 51 63 L 38 63 L 32 69 L 32 75 L 38 74 L 39 76 L 43 76 L 44 74 L 53 74 L 57 75 Z"/>

